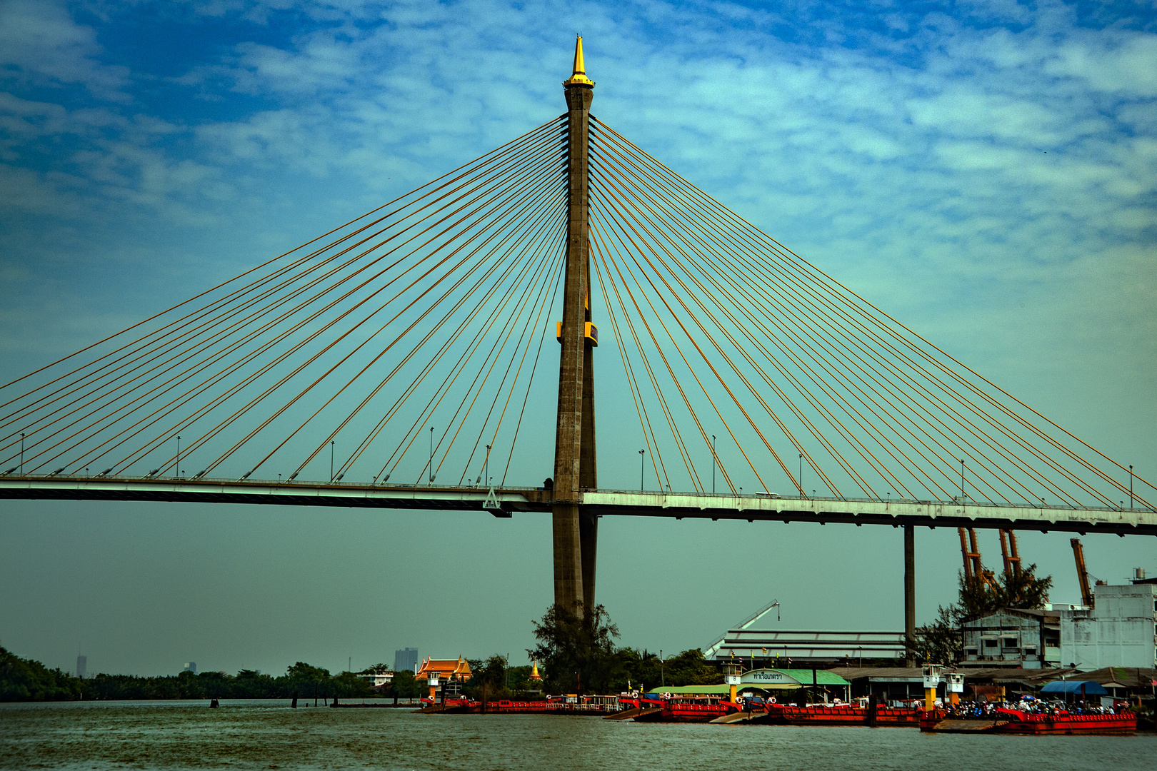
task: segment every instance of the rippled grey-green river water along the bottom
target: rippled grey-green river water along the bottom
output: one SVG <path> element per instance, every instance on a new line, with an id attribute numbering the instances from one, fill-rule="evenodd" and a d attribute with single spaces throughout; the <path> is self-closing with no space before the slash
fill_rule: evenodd
<path id="1" fill-rule="evenodd" d="M 286 702 L 0 704 L 2 769 L 1157 769 L 1157 734 L 983 736 L 914 728 L 657 725 L 423 716 Z"/>

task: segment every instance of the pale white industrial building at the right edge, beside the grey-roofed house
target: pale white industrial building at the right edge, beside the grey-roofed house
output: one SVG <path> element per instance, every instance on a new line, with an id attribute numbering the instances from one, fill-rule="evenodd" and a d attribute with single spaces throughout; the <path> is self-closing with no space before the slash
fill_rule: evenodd
<path id="1" fill-rule="evenodd" d="M 1098 584 L 1088 609 L 1057 609 L 1061 665 L 1077 669 L 1157 666 L 1157 584 Z M 1054 606 L 1055 608 L 1055 606 Z"/>

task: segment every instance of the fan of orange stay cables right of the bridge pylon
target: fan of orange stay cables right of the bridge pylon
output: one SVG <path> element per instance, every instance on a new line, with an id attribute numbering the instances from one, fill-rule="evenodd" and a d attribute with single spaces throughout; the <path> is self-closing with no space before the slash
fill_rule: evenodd
<path id="1" fill-rule="evenodd" d="M 1151 507 L 1132 469 L 590 133 L 595 275 L 661 488 L 712 491 L 710 468 L 731 492 Z"/>

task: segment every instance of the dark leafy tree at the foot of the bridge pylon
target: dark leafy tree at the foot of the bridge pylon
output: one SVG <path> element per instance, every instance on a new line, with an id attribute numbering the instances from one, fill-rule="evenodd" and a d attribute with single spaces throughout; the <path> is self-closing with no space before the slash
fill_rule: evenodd
<path id="1" fill-rule="evenodd" d="M 585 608 L 580 615 L 553 605 L 533 624 L 538 645 L 526 654 L 545 668 L 550 692 L 606 692 L 626 679 L 622 657 L 614 646 L 619 628 L 603 606 Z"/>

